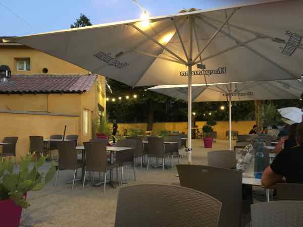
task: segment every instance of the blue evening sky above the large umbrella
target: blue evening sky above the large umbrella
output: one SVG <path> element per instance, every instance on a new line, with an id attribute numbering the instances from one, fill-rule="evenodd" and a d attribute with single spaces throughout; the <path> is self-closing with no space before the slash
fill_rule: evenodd
<path id="1" fill-rule="evenodd" d="M 207 9 L 262 0 L 139 0 L 150 16 L 186 8 Z M 10 12 L 12 11 L 12 12 Z M 0 0 L 0 36 L 21 36 L 70 27 L 80 13 L 92 24 L 136 19 L 140 9 L 131 0 Z M 14 14 L 18 15 L 15 16 Z"/>

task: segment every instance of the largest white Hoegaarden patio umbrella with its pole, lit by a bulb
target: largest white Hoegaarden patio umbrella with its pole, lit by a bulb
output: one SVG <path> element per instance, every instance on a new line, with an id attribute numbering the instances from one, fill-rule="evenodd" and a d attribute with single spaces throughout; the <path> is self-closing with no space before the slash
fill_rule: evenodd
<path id="1" fill-rule="evenodd" d="M 251 2 L 10 40 L 131 86 L 187 84 L 188 100 L 192 83 L 299 79 L 303 2 Z M 189 163 L 190 129 L 191 101 Z"/>

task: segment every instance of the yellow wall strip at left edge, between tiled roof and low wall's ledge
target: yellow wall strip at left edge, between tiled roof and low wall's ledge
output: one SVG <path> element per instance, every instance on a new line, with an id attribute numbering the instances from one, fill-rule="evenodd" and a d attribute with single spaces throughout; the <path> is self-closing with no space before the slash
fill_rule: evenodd
<path id="1" fill-rule="evenodd" d="M 1 94 L 0 110 L 46 112 L 47 94 Z"/>

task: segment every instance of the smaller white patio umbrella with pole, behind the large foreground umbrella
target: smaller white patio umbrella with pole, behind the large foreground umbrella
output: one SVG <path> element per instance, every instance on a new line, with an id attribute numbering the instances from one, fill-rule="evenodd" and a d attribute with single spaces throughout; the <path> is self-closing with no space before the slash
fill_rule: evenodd
<path id="1" fill-rule="evenodd" d="M 174 98 L 188 100 L 186 85 L 160 85 L 148 88 Z M 204 101 L 229 101 L 229 149 L 232 149 L 231 136 L 231 102 L 245 100 L 269 99 L 299 99 L 303 93 L 303 86 L 298 80 L 238 82 L 225 84 L 192 84 L 192 100 Z M 293 107 L 292 107 L 293 108 Z M 279 111 L 280 109 L 278 109 Z M 281 109 L 281 114 L 283 109 Z M 299 109 L 300 110 L 300 109 Z M 293 110 L 292 110 L 293 111 Z M 287 113 L 289 111 L 286 111 Z M 300 116 L 302 112 L 300 110 Z M 282 115 L 283 116 L 283 115 Z M 293 116 L 293 115 L 291 115 Z M 285 117 L 285 116 L 283 116 Z M 285 117 L 287 118 L 287 117 Z M 292 120 L 292 119 L 291 119 Z"/>

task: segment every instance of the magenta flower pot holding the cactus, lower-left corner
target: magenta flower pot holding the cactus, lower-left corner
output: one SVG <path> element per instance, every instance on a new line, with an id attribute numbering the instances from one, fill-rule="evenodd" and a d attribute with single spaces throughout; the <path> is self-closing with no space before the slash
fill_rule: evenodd
<path id="1" fill-rule="evenodd" d="M 24 194 L 26 198 L 26 193 Z M 20 223 L 22 207 L 11 199 L 0 200 L 1 221 L 0 226 L 18 227 Z"/>

